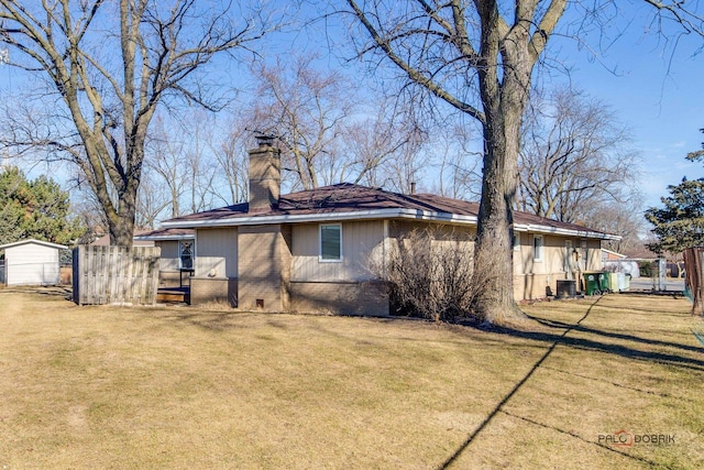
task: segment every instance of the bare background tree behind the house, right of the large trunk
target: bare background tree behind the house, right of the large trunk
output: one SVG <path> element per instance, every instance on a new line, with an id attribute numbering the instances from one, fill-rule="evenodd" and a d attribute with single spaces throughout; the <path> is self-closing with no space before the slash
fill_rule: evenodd
<path id="1" fill-rule="evenodd" d="M 638 177 L 628 129 L 606 105 L 573 90 L 534 96 L 518 156 L 518 207 L 564 222 L 625 205 Z"/>

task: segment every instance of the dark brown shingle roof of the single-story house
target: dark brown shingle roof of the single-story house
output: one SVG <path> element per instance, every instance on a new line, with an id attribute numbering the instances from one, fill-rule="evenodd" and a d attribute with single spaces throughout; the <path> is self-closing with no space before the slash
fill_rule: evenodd
<path id="1" fill-rule="evenodd" d="M 196 227 L 204 222 L 228 222 L 237 226 L 238 219 L 252 220 L 257 218 L 277 218 L 290 216 L 317 216 L 342 215 L 355 212 L 380 211 L 384 209 L 404 209 L 425 214 L 462 216 L 465 220 L 471 220 L 479 216 L 480 206 L 476 203 L 469 203 L 461 199 L 452 199 L 431 194 L 405 195 L 378 188 L 341 183 L 331 186 L 323 186 L 316 189 L 302 190 L 283 195 L 278 206 L 270 209 L 249 212 L 249 204 L 242 203 L 234 206 L 221 207 L 219 209 L 207 210 L 205 212 L 191 214 L 177 217 L 164 222 L 165 226 Z M 551 229 L 568 230 L 591 233 L 592 236 L 609 237 L 597 230 L 587 229 L 575 223 L 560 222 L 546 219 L 526 212 L 515 211 L 514 221 L 517 226 L 539 226 L 543 231 Z"/>

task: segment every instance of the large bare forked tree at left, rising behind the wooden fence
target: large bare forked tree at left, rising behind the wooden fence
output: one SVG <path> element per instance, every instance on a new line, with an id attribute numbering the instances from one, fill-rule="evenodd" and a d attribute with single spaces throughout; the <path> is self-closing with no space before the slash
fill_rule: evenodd
<path id="1" fill-rule="evenodd" d="M 111 241 L 131 245 L 144 144 L 160 105 L 217 108 L 198 72 L 221 53 L 248 51 L 276 26 L 258 6 L 0 0 L 10 65 L 46 78 L 46 106 L 65 109 L 74 130 L 15 144 L 65 152 L 99 200 Z"/>

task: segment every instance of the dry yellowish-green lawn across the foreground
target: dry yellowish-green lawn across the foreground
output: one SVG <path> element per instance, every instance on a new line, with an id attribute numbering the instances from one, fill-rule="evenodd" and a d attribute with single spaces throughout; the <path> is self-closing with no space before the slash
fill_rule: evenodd
<path id="1" fill-rule="evenodd" d="M 4 289 L 0 469 L 704 468 L 689 308 L 608 295 L 482 331 Z"/>

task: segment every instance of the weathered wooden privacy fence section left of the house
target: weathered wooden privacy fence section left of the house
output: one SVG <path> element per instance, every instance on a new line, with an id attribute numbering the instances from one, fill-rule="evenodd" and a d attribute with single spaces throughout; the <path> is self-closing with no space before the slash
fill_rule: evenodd
<path id="1" fill-rule="evenodd" d="M 161 252 L 157 247 L 74 249 L 74 302 L 155 305 Z"/>

